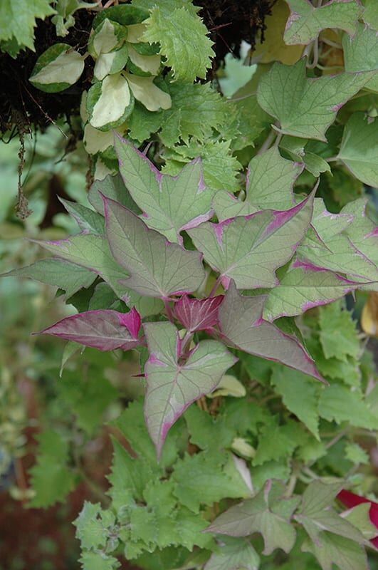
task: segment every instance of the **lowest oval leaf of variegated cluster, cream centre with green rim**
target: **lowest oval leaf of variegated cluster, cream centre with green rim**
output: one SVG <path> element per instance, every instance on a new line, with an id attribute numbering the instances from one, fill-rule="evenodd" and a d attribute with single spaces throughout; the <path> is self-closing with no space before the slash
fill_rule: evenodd
<path id="1" fill-rule="evenodd" d="M 88 91 L 86 108 L 90 124 L 99 130 L 121 125 L 132 113 L 134 95 L 121 73 L 106 76 Z"/>

